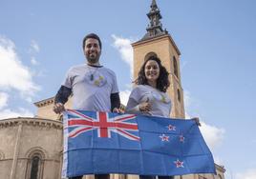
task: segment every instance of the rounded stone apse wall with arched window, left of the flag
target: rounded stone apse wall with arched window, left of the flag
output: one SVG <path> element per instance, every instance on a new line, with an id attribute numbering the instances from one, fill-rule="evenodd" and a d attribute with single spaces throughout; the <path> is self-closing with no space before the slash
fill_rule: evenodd
<path id="1" fill-rule="evenodd" d="M 0 121 L 0 178 L 30 177 L 32 156 L 40 156 L 42 179 L 60 178 L 62 123 L 49 119 L 13 118 Z"/>

